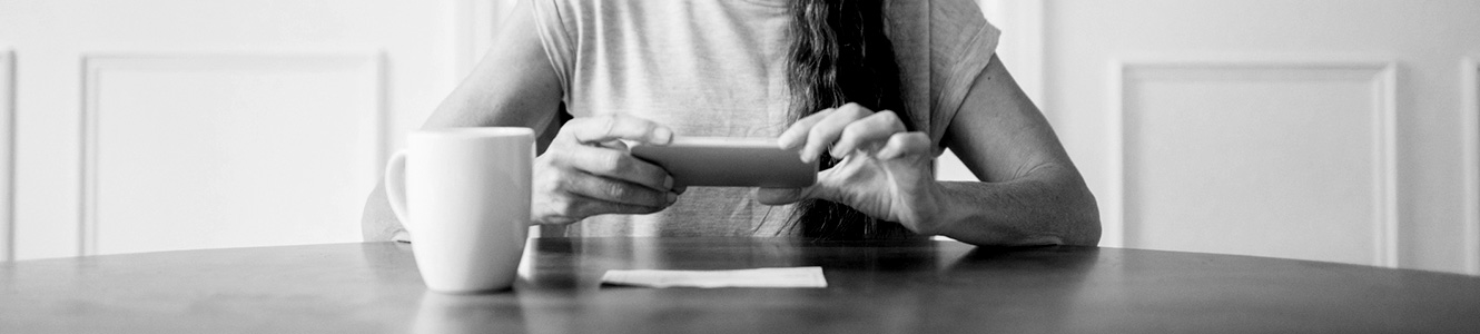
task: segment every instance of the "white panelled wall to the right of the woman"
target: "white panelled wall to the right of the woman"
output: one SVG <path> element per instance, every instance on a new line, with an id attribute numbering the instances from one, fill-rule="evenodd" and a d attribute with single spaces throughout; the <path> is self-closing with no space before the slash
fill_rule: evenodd
<path id="1" fill-rule="evenodd" d="M 1103 245 L 1480 273 L 1480 3 L 984 9 L 1014 74 L 1040 75 L 1023 81 L 1100 198 Z"/>

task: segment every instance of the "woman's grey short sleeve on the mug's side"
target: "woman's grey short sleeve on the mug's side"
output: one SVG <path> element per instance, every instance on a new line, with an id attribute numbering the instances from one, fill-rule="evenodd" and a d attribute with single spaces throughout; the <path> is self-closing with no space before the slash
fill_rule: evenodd
<path id="1" fill-rule="evenodd" d="M 570 77 L 576 68 L 576 38 L 571 31 L 577 30 L 574 3 L 579 0 L 530 0 L 534 15 L 534 31 L 540 35 L 540 44 L 549 58 L 551 68 L 564 92 L 570 92 Z"/>

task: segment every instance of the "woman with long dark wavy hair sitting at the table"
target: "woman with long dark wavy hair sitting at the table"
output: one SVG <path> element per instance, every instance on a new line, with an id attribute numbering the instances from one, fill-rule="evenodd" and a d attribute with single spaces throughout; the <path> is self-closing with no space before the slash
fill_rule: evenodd
<path id="1" fill-rule="evenodd" d="M 531 220 L 567 235 L 1100 239 L 1052 129 L 969 0 L 531 0 L 425 127 L 542 129 Z M 672 186 L 619 140 L 777 137 L 804 189 Z M 984 182 L 937 182 L 950 148 Z M 367 239 L 404 239 L 380 191 Z M 579 222 L 579 223 L 577 223 Z"/>

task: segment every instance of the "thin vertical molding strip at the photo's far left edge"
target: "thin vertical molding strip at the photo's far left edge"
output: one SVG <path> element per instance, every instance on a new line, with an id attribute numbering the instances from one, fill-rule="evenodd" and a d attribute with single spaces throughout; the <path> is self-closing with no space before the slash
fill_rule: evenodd
<path id="1" fill-rule="evenodd" d="M 15 260 L 15 50 L 0 49 L 0 262 Z"/>

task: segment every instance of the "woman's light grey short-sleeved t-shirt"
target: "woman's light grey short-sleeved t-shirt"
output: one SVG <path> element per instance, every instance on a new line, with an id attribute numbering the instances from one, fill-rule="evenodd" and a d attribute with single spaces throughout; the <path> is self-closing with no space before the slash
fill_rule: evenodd
<path id="1" fill-rule="evenodd" d="M 531 0 L 536 30 L 574 117 L 625 114 L 679 136 L 786 130 L 789 0 Z M 894 0 L 889 38 L 915 129 L 940 146 L 999 31 L 971 0 Z M 667 210 L 607 214 L 568 235 L 790 235 L 790 205 L 749 188 L 690 188 Z"/>

